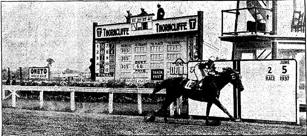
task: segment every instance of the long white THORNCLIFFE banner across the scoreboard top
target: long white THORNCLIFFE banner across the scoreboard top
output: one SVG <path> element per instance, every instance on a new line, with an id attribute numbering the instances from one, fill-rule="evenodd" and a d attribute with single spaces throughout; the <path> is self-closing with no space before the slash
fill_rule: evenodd
<path id="1" fill-rule="evenodd" d="M 146 20 L 147 29 L 132 29 L 130 23 L 95 26 L 95 38 L 136 36 L 157 33 L 187 32 L 197 30 L 197 16 L 176 17 L 165 20 Z M 150 25 L 149 25 L 150 24 Z"/>

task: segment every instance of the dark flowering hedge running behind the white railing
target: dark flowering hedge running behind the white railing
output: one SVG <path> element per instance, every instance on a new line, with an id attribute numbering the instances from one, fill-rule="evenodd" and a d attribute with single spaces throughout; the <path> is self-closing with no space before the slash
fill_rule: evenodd
<path id="1" fill-rule="evenodd" d="M 21 86 L 67 86 L 67 87 L 107 87 L 107 88 L 154 88 L 161 81 L 140 81 L 140 80 L 107 80 L 93 82 L 74 81 L 24 81 L 16 83 Z M 38 91 L 20 91 L 21 99 L 39 99 Z M 46 100 L 69 101 L 69 92 L 48 91 L 44 92 Z M 142 94 L 142 103 L 161 103 L 165 99 L 164 94 Z M 76 92 L 76 102 L 108 102 L 108 93 L 98 92 Z M 117 103 L 137 103 L 137 94 L 114 93 L 114 102 Z"/>

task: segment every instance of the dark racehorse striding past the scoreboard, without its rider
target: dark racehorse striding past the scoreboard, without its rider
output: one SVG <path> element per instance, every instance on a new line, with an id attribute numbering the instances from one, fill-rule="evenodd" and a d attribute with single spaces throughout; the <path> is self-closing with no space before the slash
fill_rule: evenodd
<path id="1" fill-rule="evenodd" d="M 153 93 L 151 95 L 161 91 L 162 89 L 166 89 L 165 100 L 158 111 L 155 111 L 153 114 L 150 114 L 149 118 L 144 118 L 145 121 L 153 122 L 155 120 L 155 116 L 161 111 L 164 111 L 164 122 L 168 122 L 168 119 L 166 117 L 167 108 L 173 101 L 175 101 L 182 95 L 196 101 L 208 103 L 206 111 L 207 125 L 209 124 L 208 116 L 212 104 L 215 104 L 217 107 L 219 107 L 232 120 L 238 121 L 232 115 L 229 114 L 225 107 L 223 107 L 223 105 L 220 103 L 219 97 L 221 89 L 225 87 L 228 83 L 231 83 L 235 88 L 238 89 L 238 91 L 244 90 L 239 72 L 236 72 L 232 68 L 223 68 L 223 72 L 220 72 L 218 76 L 210 76 L 208 78 L 213 78 L 212 83 L 205 83 L 206 81 L 203 80 L 200 89 L 192 87 L 193 83 L 196 82 L 195 80 L 193 81 L 183 77 L 169 78 L 162 81 L 161 84 L 157 85 L 153 89 Z M 213 83 L 216 85 L 215 89 L 211 87 Z"/>

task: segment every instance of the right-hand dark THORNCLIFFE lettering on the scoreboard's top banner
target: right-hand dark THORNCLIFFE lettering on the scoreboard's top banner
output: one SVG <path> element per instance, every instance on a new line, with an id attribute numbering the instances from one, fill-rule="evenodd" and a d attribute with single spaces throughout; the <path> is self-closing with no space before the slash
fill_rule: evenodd
<path id="1" fill-rule="evenodd" d="M 173 23 L 173 24 L 162 24 L 159 23 L 157 25 L 157 32 L 169 32 L 169 31 L 179 31 L 179 30 L 187 30 L 187 22 L 181 23 Z"/>

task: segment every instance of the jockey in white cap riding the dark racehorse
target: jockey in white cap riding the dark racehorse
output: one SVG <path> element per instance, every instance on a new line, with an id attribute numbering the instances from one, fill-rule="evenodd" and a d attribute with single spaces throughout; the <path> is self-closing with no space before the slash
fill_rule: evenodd
<path id="1" fill-rule="evenodd" d="M 196 88 L 199 88 L 202 85 L 202 82 L 208 82 L 212 86 L 212 89 L 217 89 L 212 78 L 212 76 L 217 76 L 214 61 L 215 57 L 211 56 L 207 62 L 201 62 L 195 66 L 196 69 L 199 69 L 198 71 L 200 71 L 202 76 L 200 77 L 200 74 L 196 74 L 196 76 L 198 75 L 197 79 L 201 79 L 196 83 Z"/>

